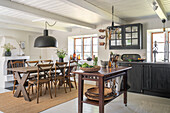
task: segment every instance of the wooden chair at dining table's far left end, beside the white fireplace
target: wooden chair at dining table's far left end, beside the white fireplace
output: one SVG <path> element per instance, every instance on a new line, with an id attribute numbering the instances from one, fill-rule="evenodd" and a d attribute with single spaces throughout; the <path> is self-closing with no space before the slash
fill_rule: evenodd
<path id="1" fill-rule="evenodd" d="M 24 60 L 23 61 L 10 61 L 10 63 L 11 63 L 12 68 L 25 67 Z M 15 77 L 15 72 L 13 72 L 13 77 L 14 77 L 14 85 L 13 85 L 13 94 L 14 94 L 15 93 L 15 85 L 17 83 L 17 79 Z"/>

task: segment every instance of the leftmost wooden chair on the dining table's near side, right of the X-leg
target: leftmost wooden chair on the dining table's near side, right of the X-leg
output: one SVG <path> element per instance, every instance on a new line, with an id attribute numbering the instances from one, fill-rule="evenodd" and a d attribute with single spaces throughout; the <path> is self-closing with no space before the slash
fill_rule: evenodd
<path id="1" fill-rule="evenodd" d="M 50 78 L 51 78 L 51 69 L 53 67 L 53 64 L 38 64 L 37 67 L 38 67 L 37 79 L 29 80 L 28 88 L 30 88 L 30 86 L 33 84 L 36 85 L 36 87 L 37 87 L 37 103 L 39 103 L 40 89 L 42 89 L 43 84 L 48 85 L 48 90 L 50 93 L 50 97 L 52 99 L 51 88 L 50 88 Z M 43 72 L 44 75 L 46 75 L 46 77 L 44 77 L 44 78 L 40 77 L 40 72 Z M 45 90 L 45 92 L 46 92 L 46 90 Z"/>

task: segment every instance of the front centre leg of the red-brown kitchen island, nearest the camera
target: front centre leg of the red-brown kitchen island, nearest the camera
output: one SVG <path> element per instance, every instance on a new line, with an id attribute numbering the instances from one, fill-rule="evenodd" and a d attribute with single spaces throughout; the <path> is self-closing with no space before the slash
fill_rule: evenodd
<path id="1" fill-rule="evenodd" d="M 104 78 L 99 77 L 99 113 L 104 113 Z"/>

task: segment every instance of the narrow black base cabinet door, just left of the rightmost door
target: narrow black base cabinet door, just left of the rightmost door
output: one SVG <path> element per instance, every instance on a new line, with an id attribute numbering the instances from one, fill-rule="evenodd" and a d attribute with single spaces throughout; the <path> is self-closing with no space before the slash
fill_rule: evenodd
<path id="1" fill-rule="evenodd" d="M 151 89 L 151 65 L 143 66 L 143 89 Z"/>

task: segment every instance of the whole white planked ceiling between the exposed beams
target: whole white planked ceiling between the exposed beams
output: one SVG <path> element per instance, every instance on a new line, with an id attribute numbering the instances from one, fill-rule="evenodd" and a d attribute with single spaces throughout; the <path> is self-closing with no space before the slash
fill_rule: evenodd
<path id="1" fill-rule="evenodd" d="M 1 0 L 2 1 L 2 0 Z M 4 0 L 5 1 L 5 0 Z M 9 0 L 8 0 L 9 1 Z M 79 6 L 71 2 L 72 0 L 11 0 L 12 2 L 27 5 L 33 8 L 40 9 L 42 11 L 47 11 L 53 14 L 61 15 L 68 17 L 79 22 L 85 22 L 93 25 L 99 25 L 102 23 L 111 22 L 110 19 L 92 11 L 86 7 Z M 79 0 L 75 0 L 79 2 Z M 81 0 L 83 1 L 83 0 Z M 148 0 L 84 0 L 84 2 L 91 4 L 98 9 L 101 9 L 107 14 L 111 14 L 112 5 L 114 5 L 115 15 L 122 20 L 134 20 L 140 18 L 148 18 L 156 16 L 156 13 L 151 8 Z M 170 14 L 170 0 L 160 0 L 167 14 Z M 95 8 L 94 8 L 95 9 Z M 100 11 L 100 10 L 98 10 Z M 0 16 L 5 16 L 9 18 L 16 18 L 19 20 L 26 20 L 32 22 L 33 20 L 42 19 L 40 17 L 24 11 L 19 11 L 12 8 L 7 8 L 0 6 Z M 57 21 L 55 26 L 64 27 L 64 28 L 74 28 L 80 27 L 75 23 L 66 23 L 59 20 L 45 18 L 50 23 Z M 12 19 L 11 21 L 15 21 Z M 2 22 L 2 19 L 0 19 Z M 7 21 L 6 21 L 7 22 Z M 23 22 L 23 21 L 22 21 Z M 44 21 L 34 22 L 44 25 Z M 42 26 L 41 26 L 42 27 Z"/>

